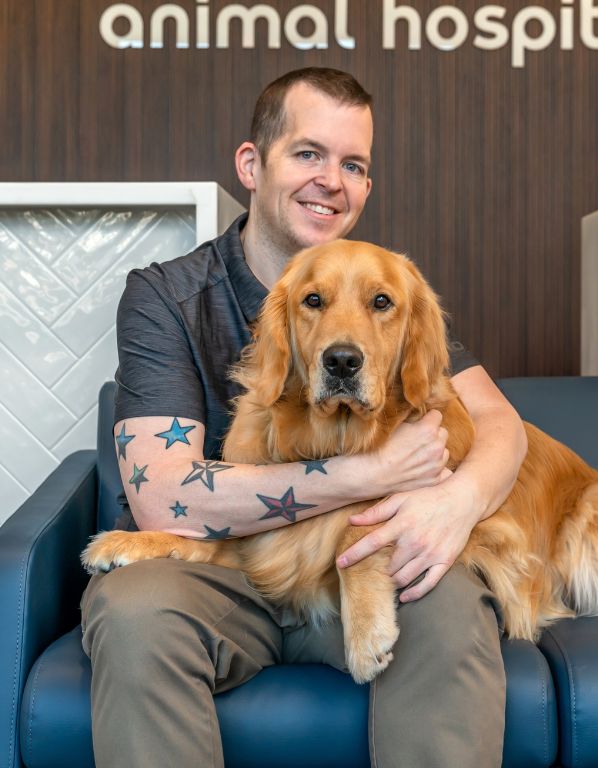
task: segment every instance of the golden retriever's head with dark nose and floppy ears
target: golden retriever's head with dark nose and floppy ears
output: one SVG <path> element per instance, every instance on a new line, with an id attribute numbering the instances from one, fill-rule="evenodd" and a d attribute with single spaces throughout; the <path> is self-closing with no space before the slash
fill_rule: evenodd
<path id="1" fill-rule="evenodd" d="M 398 398 L 421 410 L 448 365 L 433 291 L 405 256 L 337 240 L 301 251 L 268 295 L 236 378 L 255 401 L 285 390 L 368 418 Z"/>

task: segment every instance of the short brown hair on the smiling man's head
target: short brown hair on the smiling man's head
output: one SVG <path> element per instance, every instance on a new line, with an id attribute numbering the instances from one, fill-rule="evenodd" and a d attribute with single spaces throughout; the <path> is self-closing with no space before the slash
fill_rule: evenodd
<path id="1" fill-rule="evenodd" d="M 270 147 L 285 130 L 286 95 L 299 83 L 309 85 L 340 104 L 370 109 L 372 107 L 370 94 L 348 72 L 328 67 L 304 67 L 287 72 L 266 86 L 255 105 L 251 121 L 251 141 L 257 147 L 263 165 L 266 164 Z"/>

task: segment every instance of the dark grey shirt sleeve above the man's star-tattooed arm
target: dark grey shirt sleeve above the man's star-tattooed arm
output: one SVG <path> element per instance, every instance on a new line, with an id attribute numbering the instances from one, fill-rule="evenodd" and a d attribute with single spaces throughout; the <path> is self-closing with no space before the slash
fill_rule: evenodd
<path id="1" fill-rule="evenodd" d="M 182 416 L 206 423 L 205 395 L 178 306 L 163 275 L 134 270 L 118 306 L 114 422 Z"/>

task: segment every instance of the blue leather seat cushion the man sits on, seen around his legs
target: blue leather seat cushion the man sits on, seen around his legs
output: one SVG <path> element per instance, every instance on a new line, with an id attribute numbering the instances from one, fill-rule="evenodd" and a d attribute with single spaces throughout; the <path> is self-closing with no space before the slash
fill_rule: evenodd
<path id="1" fill-rule="evenodd" d="M 503 641 L 505 768 L 547 768 L 556 755 L 556 704 L 544 657 Z M 90 664 L 74 629 L 29 676 L 21 710 L 28 768 L 93 768 Z M 368 686 L 323 665 L 277 666 L 216 697 L 227 768 L 367 768 Z M 126 724 L 125 726 L 126 727 Z"/>

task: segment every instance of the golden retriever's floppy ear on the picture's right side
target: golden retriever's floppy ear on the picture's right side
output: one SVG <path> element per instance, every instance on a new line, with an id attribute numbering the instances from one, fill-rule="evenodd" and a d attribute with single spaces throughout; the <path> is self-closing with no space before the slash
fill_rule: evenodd
<path id="1" fill-rule="evenodd" d="M 403 342 L 401 382 L 407 402 L 421 409 L 448 368 L 446 326 L 434 291 L 414 264 L 406 260 L 405 266 L 411 309 Z"/>

